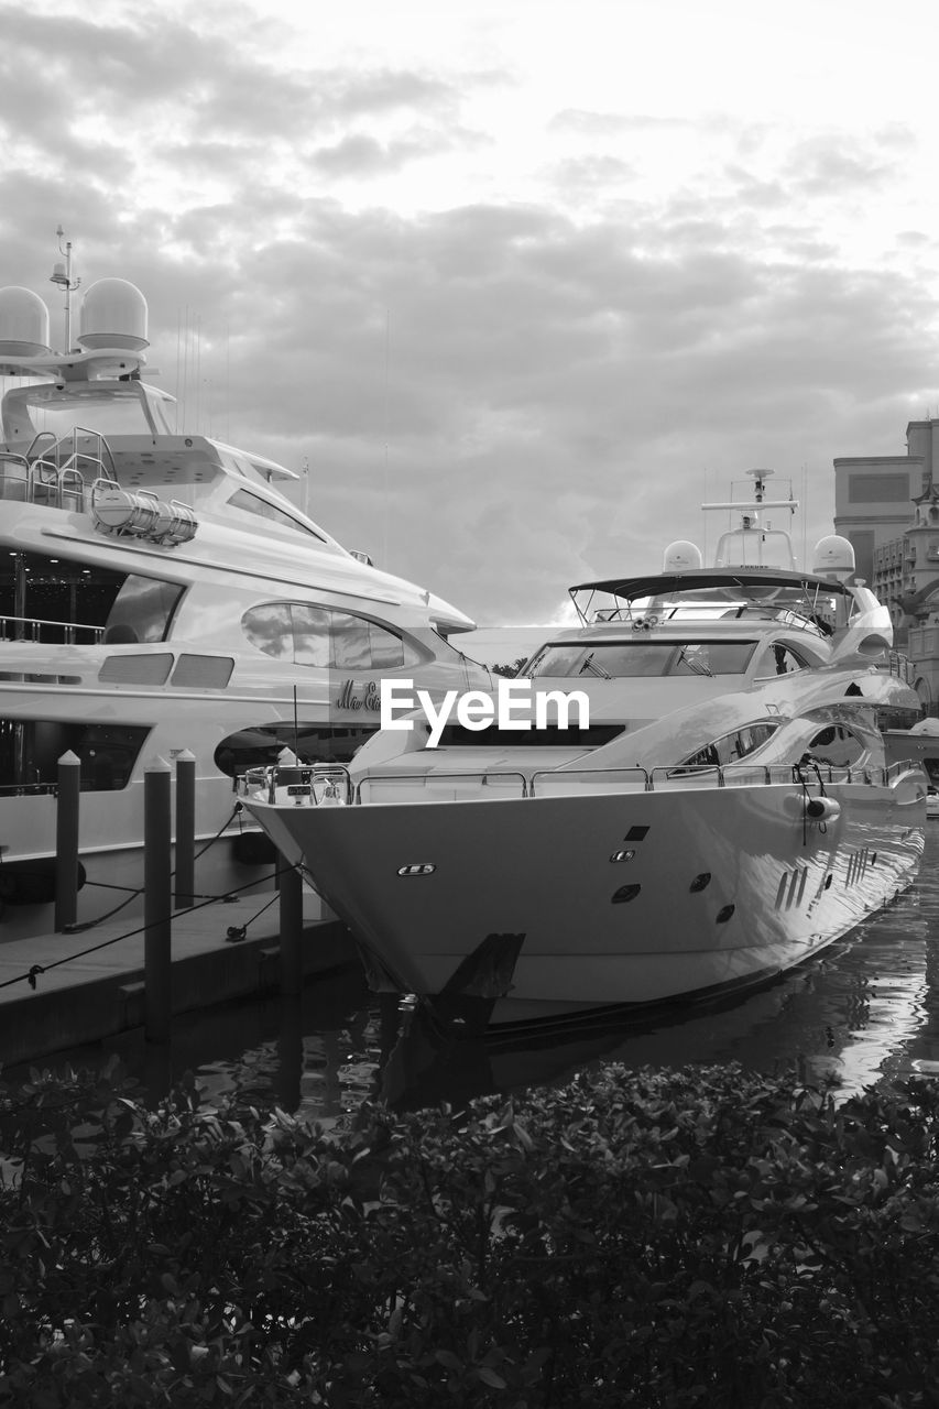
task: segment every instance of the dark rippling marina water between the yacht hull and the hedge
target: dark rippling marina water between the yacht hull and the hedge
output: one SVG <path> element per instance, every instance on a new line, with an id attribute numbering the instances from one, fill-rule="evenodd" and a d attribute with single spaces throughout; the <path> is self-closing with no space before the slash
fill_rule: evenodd
<path id="1" fill-rule="evenodd" d="M 708 1010 L 644 1027 L 556 1024 L 524 1041 L 441 1041 L 417 1017 L 379 1006 L 350 968 L 300 1000 L 188 1014 L 175 1024 L 171 1053 L 147 1053 L 137 1036 L 109 1051 L 152 1092 L 195 1071 L 211 1096 L 240 1089 L 327 1124 L 365 1098 L 383 1095 L 399 1107 L 461 1102 L 561 1082 L 599 1061 L 739 1061 L 768 1072 L 798 1065 L 808 1081 L 836 1075 L 845 1092 L 939 1074 L 939 821 L 928 827 L 919 879 L 894 905 L 771 986 Z M 104 1055 L 86 1048 L 70 1060 Z"/>

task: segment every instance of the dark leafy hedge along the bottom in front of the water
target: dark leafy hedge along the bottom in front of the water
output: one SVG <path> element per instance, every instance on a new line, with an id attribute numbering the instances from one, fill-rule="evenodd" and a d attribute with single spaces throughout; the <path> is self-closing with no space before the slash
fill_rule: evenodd
<path id="1" fill-rule="evenodd" d="M 739 1068 L 341 1136 L 3 1092 L 0 1403 L 939 1405 L 939 1086 Z"/>

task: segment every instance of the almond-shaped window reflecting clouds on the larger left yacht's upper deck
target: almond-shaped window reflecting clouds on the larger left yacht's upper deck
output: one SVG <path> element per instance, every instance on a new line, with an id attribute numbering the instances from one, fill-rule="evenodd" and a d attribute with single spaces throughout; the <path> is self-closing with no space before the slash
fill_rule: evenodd
<path id="1" fill-rule="evenodd" d="M 265 655 L 323 671 L 396 671 L 422 659 L 410 643 L 378 621 L 302 602 L 251 607 L 241 626 Z"/>

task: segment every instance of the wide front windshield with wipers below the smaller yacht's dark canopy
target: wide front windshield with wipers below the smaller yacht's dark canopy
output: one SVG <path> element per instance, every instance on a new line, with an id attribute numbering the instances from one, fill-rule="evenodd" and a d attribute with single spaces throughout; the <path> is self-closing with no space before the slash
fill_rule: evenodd
<path id="1" fill-rule="evenodd" d="M 570 641 L 544 645 L 522 675 L 626 679 L 639 675 L 743 675 L 756 641 Z"/>

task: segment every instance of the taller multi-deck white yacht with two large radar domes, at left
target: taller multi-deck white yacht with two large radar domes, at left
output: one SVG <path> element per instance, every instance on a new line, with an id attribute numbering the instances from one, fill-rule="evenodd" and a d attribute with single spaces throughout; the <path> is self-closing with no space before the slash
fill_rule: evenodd
<path id="1" fill-rule="evenodd" d="M 489 679 L 446 641 L 472 621 L 347 552 L 282 492 L 296 472 L 176 428 L 144 380 L 140 290 L 90 285 L 70 341 L 54 352 L 44 300 L 0 290 L 0 941 L 52 930 L 68 751 L 87 923 L 140 889 L 155 759 L 195 755 L 196 886 L 226 893 L 271 875 L 238 771 L 350 759 L 385 675 Z"/>

